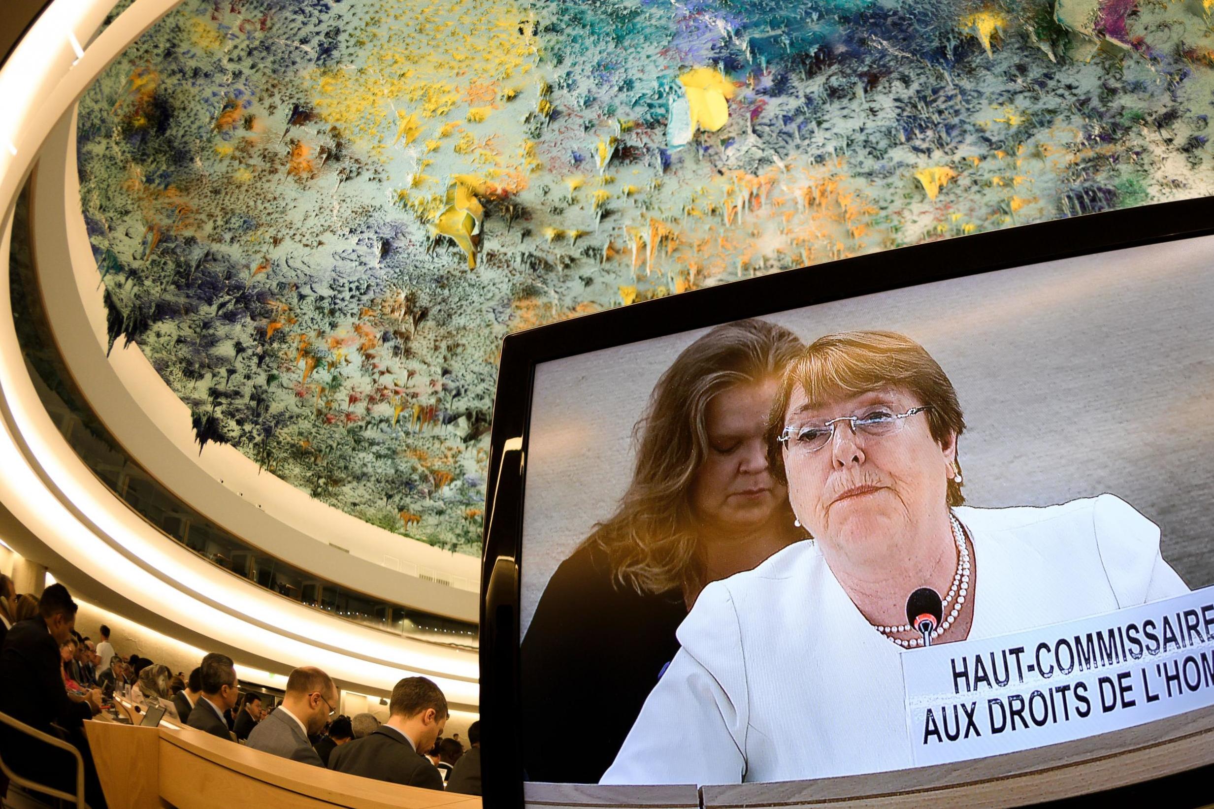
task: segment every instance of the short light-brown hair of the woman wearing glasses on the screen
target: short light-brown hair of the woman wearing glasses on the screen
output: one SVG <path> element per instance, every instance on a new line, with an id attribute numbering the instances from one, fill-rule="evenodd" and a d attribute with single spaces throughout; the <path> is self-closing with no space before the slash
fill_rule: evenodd
<path id="1" fill-rule="evenodd" d="M 793 393 L 805 391 L 811 406 L 832 399 L 856 397 L 873 391 L 902 388 L 929 405 L 927 428 L 937 444 L 949 435 L 960 438 L 965 417 L 957 391 L 940 364 L 923 346 L 894 331 L 844 331 L 818 337 L 793 360 L 779 384 L 779 393 L 767 418 L 767 462 L 781 483 L 788 483 L 784 455 L 778 437 Z M 954 455 L 958 475 L 960 457 Z M 948 482 L 948 505 L 961 506 L 961 484 Z"/>

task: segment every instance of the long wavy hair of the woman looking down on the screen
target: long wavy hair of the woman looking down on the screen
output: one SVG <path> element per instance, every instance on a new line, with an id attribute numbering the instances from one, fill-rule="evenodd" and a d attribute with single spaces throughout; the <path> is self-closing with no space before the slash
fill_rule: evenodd
<path id="1" fill-rule="evenodd" d="M 583 543 L 607 552 L 613 583 L 645 594 L 697 580 L 690 489 L 708 454 L 708 405 L 726 388 L 778 378 L 802 349 L 783 326 L 738 320 L 713 329 L 665 370 L 632 428 L 636 465 L 628 491 Z"/>

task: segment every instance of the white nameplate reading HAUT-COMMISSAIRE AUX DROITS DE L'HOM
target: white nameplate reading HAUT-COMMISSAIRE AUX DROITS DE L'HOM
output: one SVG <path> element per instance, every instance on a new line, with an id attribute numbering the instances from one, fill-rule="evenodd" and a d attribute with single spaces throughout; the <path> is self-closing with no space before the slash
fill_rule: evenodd
<path id="1" fill-rule="evenodd" d="M 1214 587 L 901 657 L 917 767 L 1093 736 L 1214 705 Z"/>

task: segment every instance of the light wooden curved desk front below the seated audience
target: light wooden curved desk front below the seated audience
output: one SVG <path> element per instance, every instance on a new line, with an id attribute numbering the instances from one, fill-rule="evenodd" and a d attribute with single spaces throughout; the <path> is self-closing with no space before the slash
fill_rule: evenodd
<path id="1" fill-rule="evenodd" d="M 481 809 L 475 796 L 334 773 L 193 728 L 90 720 L 85 733 L 112 809 Z"/>

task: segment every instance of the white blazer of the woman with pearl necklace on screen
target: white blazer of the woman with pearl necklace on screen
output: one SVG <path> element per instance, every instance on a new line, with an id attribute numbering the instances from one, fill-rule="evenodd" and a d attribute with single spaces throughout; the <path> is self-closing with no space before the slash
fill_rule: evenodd
<path id="1" fill-rule="evenodd" d="M 970 638 L 1189 592 L 1159 529 L 1101 495 L 955 509 L 974 540 Z M 739 784 L 912 767 L 902 666 L 812 541 L 704 588 L 601 784 Z"/>

